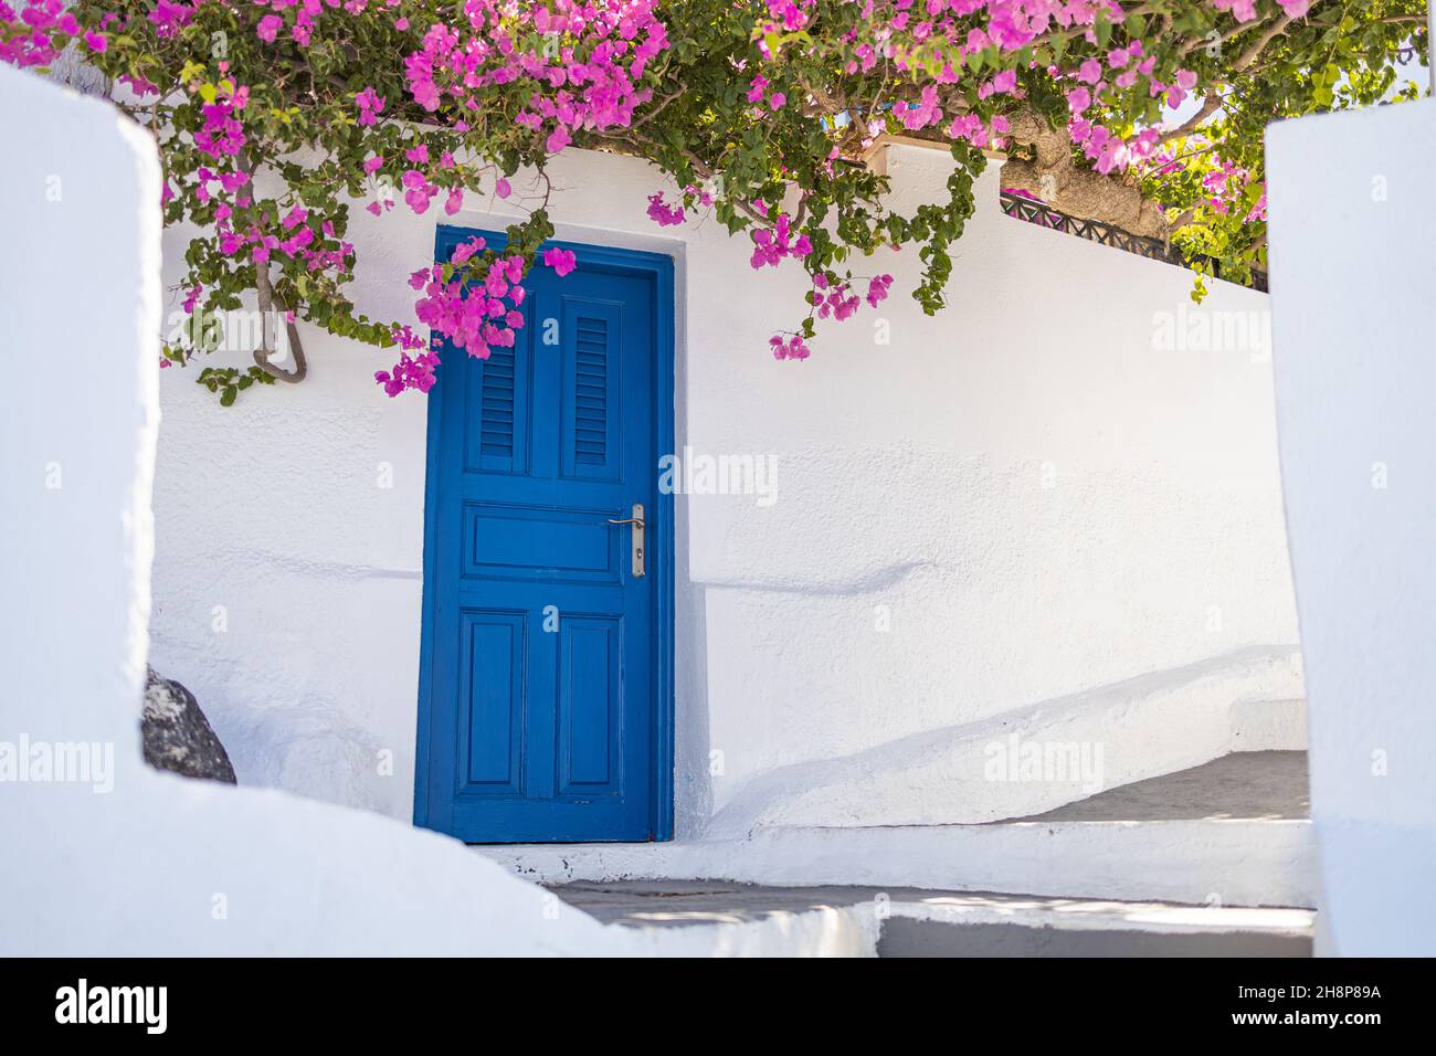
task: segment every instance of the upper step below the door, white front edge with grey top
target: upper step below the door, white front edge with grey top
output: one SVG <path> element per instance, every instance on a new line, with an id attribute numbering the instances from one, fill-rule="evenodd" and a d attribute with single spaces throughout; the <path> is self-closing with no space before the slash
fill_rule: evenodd
<path id="1" fill-rule="evenodd" d="M 844 885 L 1314 907 L 1305 756 L 1249 751 L 988 825 L 767 828 L 740 839 L 484 846 L 520 876 Z"/>

